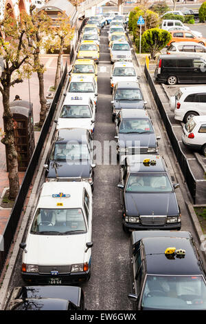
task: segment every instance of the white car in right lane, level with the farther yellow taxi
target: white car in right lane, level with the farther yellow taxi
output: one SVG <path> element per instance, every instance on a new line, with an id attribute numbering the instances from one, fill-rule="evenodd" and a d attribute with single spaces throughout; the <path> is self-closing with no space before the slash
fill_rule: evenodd
<path id="1" fill-rule="evenodd" d="M 132 50 L 126 41 L 113 41 L 110 50 L 111 63 L 117 61 L 132 61 Z"/>

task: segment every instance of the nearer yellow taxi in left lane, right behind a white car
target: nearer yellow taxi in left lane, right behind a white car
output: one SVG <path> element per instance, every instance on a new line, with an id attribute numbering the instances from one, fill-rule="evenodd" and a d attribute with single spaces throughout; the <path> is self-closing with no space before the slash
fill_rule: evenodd
<path id="1" fill-rule="evenodd" d="M 69 81 L 71 77 L 75 75 L 89 75 L 95 78 L 95 81 L 98 81 L 98 67 L 93 61 L 93 59 L 77 59 L 72 66 L 72 70 L 69 73 Z"/>

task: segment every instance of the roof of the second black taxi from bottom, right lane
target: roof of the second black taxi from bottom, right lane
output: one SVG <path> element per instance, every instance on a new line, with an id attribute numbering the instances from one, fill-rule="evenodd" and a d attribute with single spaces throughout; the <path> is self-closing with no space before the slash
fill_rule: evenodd
<path id="1" fill-rule="evenodd" d="M 143 162 L 146 159 L 155 160 L 155 165 L 145 165 Z M 128 168 L 130 173 L 136 172 L 167 172 L 163 159 L 158 154 L 138 154 L 126 156 Z"/>

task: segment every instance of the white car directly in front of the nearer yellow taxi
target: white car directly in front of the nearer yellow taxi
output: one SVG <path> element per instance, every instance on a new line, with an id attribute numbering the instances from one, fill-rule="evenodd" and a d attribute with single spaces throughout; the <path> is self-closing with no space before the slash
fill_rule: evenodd
<path id="1" fill-rule="evenodd" d="M 80 96 L 82 93 L 88 94 L 96 105 L 98 99 L 98 84 L 92 76 L 73 75 L 69 82 L 68 92 L 73 93 L 74 96 Z"/>

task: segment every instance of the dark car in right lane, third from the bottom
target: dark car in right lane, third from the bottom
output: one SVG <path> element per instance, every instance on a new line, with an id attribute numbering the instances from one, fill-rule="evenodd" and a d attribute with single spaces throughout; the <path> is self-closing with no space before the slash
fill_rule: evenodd
<path id="1" fill-rule="evenodd" d="M 120 157 L 125 154 L 157 154 L 157 138 L 146 110 L 120 110 L 115 119 L 115 126 L 117 156 Z"/>

